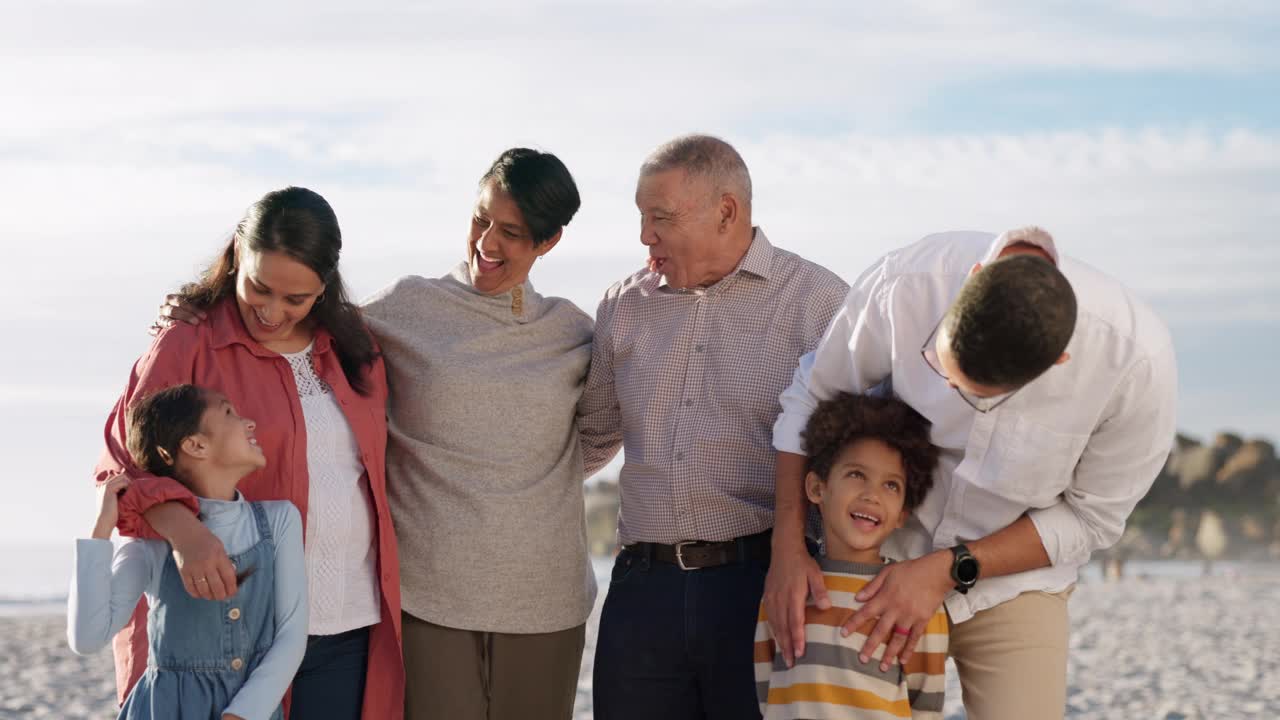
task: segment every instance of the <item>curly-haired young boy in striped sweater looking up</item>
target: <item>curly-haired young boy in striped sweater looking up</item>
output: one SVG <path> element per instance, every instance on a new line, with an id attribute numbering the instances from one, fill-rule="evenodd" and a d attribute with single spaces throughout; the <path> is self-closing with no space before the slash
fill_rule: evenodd
<path id="1" fill-rule="evenodd" d="M 818 557 L 831 610 L 805 609 L 803 657 L 787 667 L 760 607 L 755 679 L 765 720 L 942 717 L 947 616 L 940 607 L 905 665 L 881 671 L 884 646 L 869 662 L 859 650 L 874 626 L 849 637 L 840 628 L 861 603 L 854 596 L 888 560 L 879 550 L 933 487 L 938 450 L 929 423 L 897 398 L 840 393 L 818 405 L 803 434 L 805 493 L 822 512 Z"/>

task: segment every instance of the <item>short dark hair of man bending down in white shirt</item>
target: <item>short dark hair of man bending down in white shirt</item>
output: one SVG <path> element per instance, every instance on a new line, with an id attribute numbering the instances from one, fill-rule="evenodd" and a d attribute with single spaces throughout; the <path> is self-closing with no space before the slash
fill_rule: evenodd
<path id="1" fill-rule="evenodd" d="M 1061 357 L 1075 332 L 1075 292 L 1056 265 L 1011 255 L 964 283 L 942 325 L 961 373 L 1015 389 Z"/>

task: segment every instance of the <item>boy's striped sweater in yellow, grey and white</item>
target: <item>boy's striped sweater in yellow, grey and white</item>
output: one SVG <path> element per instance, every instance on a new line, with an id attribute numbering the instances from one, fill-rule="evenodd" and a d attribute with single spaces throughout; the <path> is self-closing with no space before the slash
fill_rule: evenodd
<path id="1" fill-rule="evenodd" d="M 861 606 L 858 591 L 883 566 L 819 557 L 831 610 L 805 609 L 805 655 L 787 669 L 777 652 L 764 607 L 755 628 L 755 687 L 764 720 L 892 717 L 942 719 L 946 685 L 947 615 L 940 607 L 929 619 L 915 653 L 905 666 L 879 671 L 884 646 L 865 665 L 858 653 L 874 621 L 847 638 L 840 637 L 850 611 Z"/>

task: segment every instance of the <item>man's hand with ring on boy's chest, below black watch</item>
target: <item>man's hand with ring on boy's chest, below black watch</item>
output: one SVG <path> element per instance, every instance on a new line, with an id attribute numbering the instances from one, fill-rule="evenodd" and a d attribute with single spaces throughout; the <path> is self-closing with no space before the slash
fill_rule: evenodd
<path id="1" fill-rule="evenodd" d="M 948 550 L 886 565 L 858 593 L 858 600 L 864 605 L 845 623 L 841 633 L 847 637 L 864 623 L 878 618 L 876 628 L 867 635 L 859 660 L 869 662 L 876 648 L 888 641 L 881 657 L 881 671 L 888 670 L 895 659 L 906 664 L 924 634 L 925 625 L 952 587 L 955 583 L 951 580 Z M 905 632 L 908 629 L 910 633 Z"/>

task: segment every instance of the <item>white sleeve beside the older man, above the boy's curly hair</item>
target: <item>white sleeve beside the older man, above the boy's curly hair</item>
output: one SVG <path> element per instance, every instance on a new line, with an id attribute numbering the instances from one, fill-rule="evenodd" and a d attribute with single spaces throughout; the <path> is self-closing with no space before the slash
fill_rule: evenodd
<path id="1" fill-rule="evenodd" d="M 892 372 L 890 281 L 884 263 L 858 278 L 822 342 L 800 364 L 780 396 L 782 413 L 773 424 L 773 447 L 804 455 L 800 434 L 818 402 L 838 392 L 863 392 Z"/>

